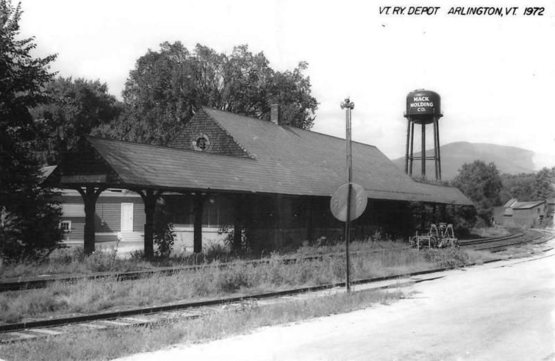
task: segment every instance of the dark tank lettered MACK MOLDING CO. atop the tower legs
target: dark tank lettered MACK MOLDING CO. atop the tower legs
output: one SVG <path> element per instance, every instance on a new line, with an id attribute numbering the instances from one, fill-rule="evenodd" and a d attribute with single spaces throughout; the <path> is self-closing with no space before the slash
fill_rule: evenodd
<path id="1" fill-rule="evenodd" d="M 414 123 L 432 123 L 434 116 L 441 117 L 441 97 L 435 91 L 417 89 L 407 94 L 405 116 Z"/>

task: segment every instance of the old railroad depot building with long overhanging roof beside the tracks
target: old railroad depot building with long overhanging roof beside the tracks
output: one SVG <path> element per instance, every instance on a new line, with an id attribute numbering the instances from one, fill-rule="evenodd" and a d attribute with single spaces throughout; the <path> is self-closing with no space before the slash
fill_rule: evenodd
<path id="1" fill-rule="evenodd" d="M 277 107 L 271 114 L 202 107 L 164 147 L 83 137 L 45 180 L 73 190 L 61 198 L 68 237 L 83 237 L 92 252 L 95 239 L 131 233 L 144 237 L 148 256 L 160 200 L 194 252 L 225 231 L 233 243 L 248 233 L 268 249 L 341 236 L 330 196 L 345 183 L 345 140 L 291 127 Z M 353 182 L 368 194 L 355 236 L 406 224 L 411 202 L 472 206 L 456 188 L 413 181 L 375 146 L 353 142 L 352 164 Z"/>

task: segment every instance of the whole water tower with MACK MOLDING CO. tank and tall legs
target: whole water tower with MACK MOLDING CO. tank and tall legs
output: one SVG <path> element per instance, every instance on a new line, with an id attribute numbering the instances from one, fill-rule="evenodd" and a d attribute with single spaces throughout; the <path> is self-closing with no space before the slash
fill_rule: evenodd
<path id="1" fill-rule="evenodd" d="M 439 118 L 441 114 L 441 98 L 435 91 L 417 89 L 407 94 L 407 153 L 404 157 L 404 173 L 412 175 L 412 163 L 420 160 L 422 178 L 426 177 L 426 161 L 433 160 L 436 169 L 436 180 L 441 180 L 441 161 L 439 155 Z M 422 152 L 420 157 L 413 156 L 414 125 L 422 128 Z M 426 156 L 426 125 L 434 125 L 434 155 Z"/>

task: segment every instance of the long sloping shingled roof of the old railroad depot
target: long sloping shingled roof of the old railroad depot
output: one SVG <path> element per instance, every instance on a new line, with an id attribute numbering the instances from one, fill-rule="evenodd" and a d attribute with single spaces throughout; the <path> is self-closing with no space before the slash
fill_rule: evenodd
<path id="1" fill-rule="evenodd" d="M 200 112 L 219 123 L 250 157 L 87 137 L 50 181 L 68 188 L 87 179 L 112 188 L 320 196 L 332 195 L 345 183 L 344 139 L 210 108 Z M 414 182 L 375 146 L 354 142 L 352 150 L 353 181 L 370 198 L 472 204 L 456 188 Z M 81 177 L 83 173 L 89 176 Z"/>

